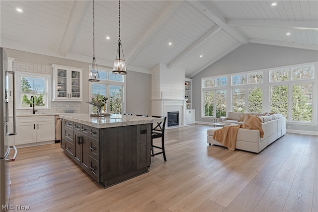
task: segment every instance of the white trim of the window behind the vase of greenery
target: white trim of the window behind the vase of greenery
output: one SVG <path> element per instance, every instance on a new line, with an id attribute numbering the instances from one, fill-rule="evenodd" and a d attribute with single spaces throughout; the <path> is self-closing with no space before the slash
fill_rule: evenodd
<path id="1" fill-rule="evenodd" d="M 88 67 L 89 70 L 91 70 L 91 66 Z M 105 71 L 105 72 L 112 72 L 111 69 L 99 69 L 98 71 Z M 124 111 L 126 111 L 126 75 L 123 75 L 124 76 L 124 82 L 118 82 L 118 81 L 111 81 L 111 80 L 108 80 L 108 74 L 107 74 L 107 78 L 106 80 L 102 79 L 100 80 L 100 82 L 88 82 L 88 96 L 90 97 L 92 95 L 92 90 L 91 90 L 91 84 L 92 83 L 102 83 L 104 85 L 106 85 L 106 96 L 109 98 L 109 85 L 120 85 L 120 86 L 123 86 L 123 90 L 122 90 L 122 95 L 123 95 L 123 113 Z M 88 99 L 87 99 L 88 100 Z M 87 101 L 86 100 L 86 101 Z M 93 109 L 93 106 L 91 104 L 89 104 L 89 113 L 90 111 L 92 111 Z M 107 101 L 107 110 L 109 110 L 109 101 Z"/>

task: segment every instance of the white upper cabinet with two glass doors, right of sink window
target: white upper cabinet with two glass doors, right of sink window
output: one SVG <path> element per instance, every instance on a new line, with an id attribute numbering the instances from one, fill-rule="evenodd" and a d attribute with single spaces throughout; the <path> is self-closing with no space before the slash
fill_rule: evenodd
<path id="1" fill-rule="evenodd" d="M 82 69 L 53 64 L 53 101 L 82 101 Z"/>

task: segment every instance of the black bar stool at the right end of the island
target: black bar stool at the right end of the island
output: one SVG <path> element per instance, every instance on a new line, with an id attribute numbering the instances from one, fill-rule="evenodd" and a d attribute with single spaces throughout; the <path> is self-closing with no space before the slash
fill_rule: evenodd
<path id="1" fill-rule="evenodd" d="M 163 122 L 157 122 L 157 124 L 153 123 L 152 133 L 151 133 L 151 156 L 154 157 L 157 154 L 163 154 L 164 161 L 167 161 L 165 157 L 165 151 L 164 151 L 164 128 L 165 128 L 165 120 L 167 117 L 165 116 L 152 116 L 152 117 L 161 118 L 163 119 Z M 154 145 L 153 140 L 157 138 L 161 138 L 161 147 Z M 162 151 L 154 153 L 154 148 L 159 148 Z"/>

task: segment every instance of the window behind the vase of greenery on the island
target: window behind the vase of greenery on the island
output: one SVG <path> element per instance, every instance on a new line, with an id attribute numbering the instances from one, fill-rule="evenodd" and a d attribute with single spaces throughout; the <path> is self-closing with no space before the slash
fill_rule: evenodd
<path id="1" fill-rule="evenodd" d="M 100 82 L 90 82 L 90 96 L 107 96 L 108 101 L 103 113 L 123 113 L 124 110 L 124 75 L 114 74 L 111 71 L 98 71 Z M 92 113 L 96 113 L 96 108 L 90 106 Z"/>

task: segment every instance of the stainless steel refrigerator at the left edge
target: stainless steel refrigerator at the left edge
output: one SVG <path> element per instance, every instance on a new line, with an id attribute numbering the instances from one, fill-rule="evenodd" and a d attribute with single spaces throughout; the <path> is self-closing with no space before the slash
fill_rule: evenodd
<path id="1" fill-rule="evenodd" d="M 12 77 L 9 77 L 12 74 Z M 10 80 L 9 80 L 10 79 Z M 14 96 L 14 71 L 8 71 L 8 58 L 5 51 L 0 48 L 0 210 L 8 210 L 10 199 L 10 170 L 9 161 L 14 161 L 17 151 L 15 146 L 9 146 L 9 136 L 15 133 L 15 96 Z M 9 83 L 12 83 L 12 91 L 9 91 Z M 9 102 L 12 95 L 12 103 Z M 10 104 L 9 104 L 10 103 Z M 9 132 L 9 107 L 12 106 L 13 132 Z M 11 109 L 11 108 L 10 108 Z M 11 111 L 11 110 L 10 110 Z M 8 158 L 10 149 L 14 149 L 12 158 Z"/>

